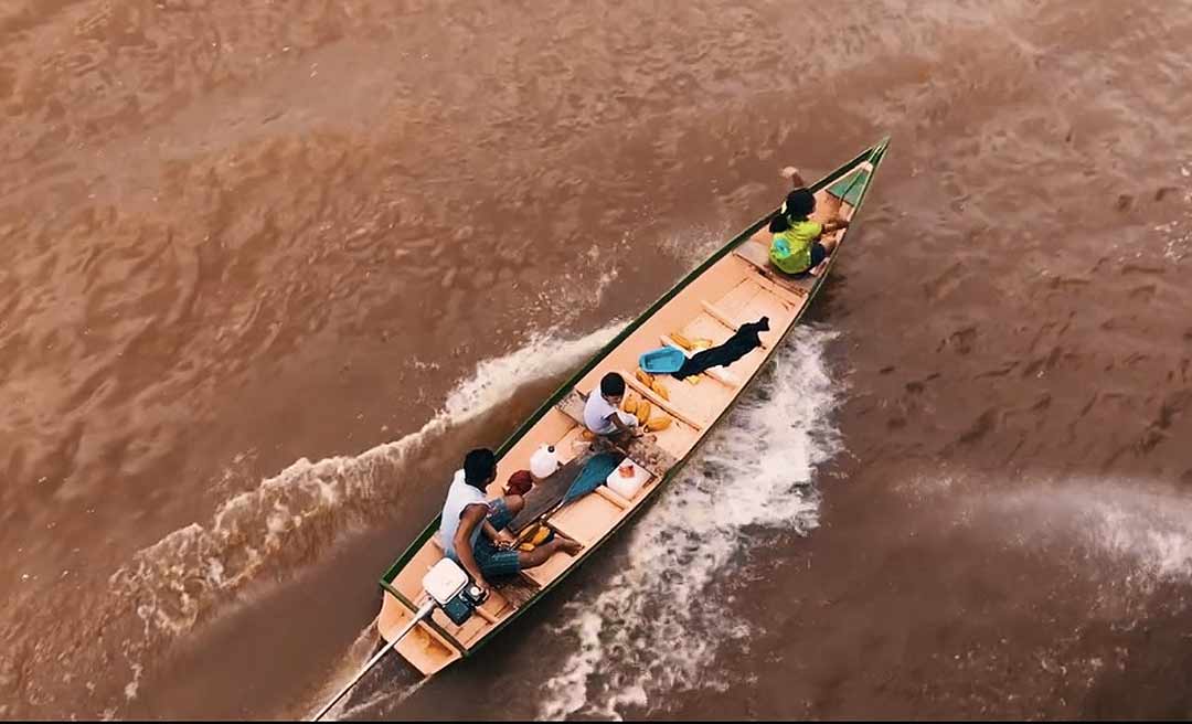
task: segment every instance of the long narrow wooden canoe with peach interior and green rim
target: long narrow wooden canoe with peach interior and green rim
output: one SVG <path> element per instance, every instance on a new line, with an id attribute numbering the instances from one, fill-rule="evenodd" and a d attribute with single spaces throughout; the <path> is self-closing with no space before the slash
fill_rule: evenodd
<path id="1" fill-rule="evenodd" d="M 886 155 L 887 143 L 888 140 L 883 140 L 867 149 L 811 187 L 818 199 L 817 217 L 827 218 L 839 214 L 851 218 L 857 214 Z M 844 248 L 842 239 L 840 246 L 818 276 L 783 276 L 768 261 L 770 234 L 766 227 L 776 211 L 777 209 L 756 221 L 663 295 L 575 377 L 564 383 L 497 450 L 497 479 L 490 487 L 490 499 L 502 495 L 504 482 L 514 471 L 529 469 L 530 454 L 542 444 L 554 445 L 564 463 L 585 454 L 586 445 L 581 434 L 583 400 L 610 371 L 621 372 L 629 392 L 652 402 L 656 416 L 665 414 L 672 419 L 670 427 L 652 433 L 653 441 L 635 441 L 628 448 L 629 456 L 651 474 L 632 500 L 601 485 L 595 493 L 561 509 L 553 509 L 550 505 L 540 506 L 546 512 L 545 522 L 581 542 L 584 545 L 582 551 L 573 557 L 557 552 L 542 567 L 526 570 L 503 586 L 492 581 L 496 588 L 490 599 L 477 611 L 478 615 L 473 615 L 462 626 L 454 625 L 441 611 L 436 611 L 399 642 L 397 650 L 418 672 L 430 676 L 457 660 L 474 654 L 578 568 L 676 476 L 683 463 L 725 417 L 745 386 L 772 357 L 811 305 Z M 838 234 L 848 235 L 852 228 L 855 227 Z M 688 339 L 706 338 L 719 345 L 739 324 L 756 321 L 763 315 L 770 320 L 770 330 L 762 334 L 762 347 L 731 366 L 716 367 L 691 378 L 696 384 L 670 376 L 659 377 L 664 380 L 669 400 L 635 379 L 639 355 L 664 344 L 673 344 L 671 334 L 678 333 Z M 575 468 L 569 466 L 571 470 Z M 561 476 L 564 472 L 557 475 Z M 536 485 L 535 493 L 547 495 L 552 478 Z M 446 490 L 445 478 L 445 495 Z M 527 508 L 535 493 L 527 496 Z M 386 641 L 392 641 L 426 601 L 422 576 L 443 556 L 437 532 L 436 518 L 380 580 L 383 604 L 378 629 Z"/>

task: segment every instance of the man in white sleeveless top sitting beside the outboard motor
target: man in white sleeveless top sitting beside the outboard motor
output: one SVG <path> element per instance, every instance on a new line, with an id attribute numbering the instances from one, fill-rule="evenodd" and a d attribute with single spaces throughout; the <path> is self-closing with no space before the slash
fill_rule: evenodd
<path id="1" fill-rule="evenodd" d="M 464 469 L 455 471 L 443 514 L 439 540 L 448 558 L 464 567 L 472 581 L 488 590 L 489 578 L 517 575 L 542 565 L 555 551 L 576 553 L 579 543 L 557 536 L 532 551 L 513 550 L 514 536 L 505 530 L 526 506 L 521 495 L 488 500 L 485 489 L 497 479 L 497 458 L 486 447 L 464 457 Z"/>

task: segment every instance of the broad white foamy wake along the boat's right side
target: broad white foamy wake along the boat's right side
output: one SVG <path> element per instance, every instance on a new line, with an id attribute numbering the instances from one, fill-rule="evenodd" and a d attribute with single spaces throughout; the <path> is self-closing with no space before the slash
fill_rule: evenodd
<path id="1" fill-rule="evenodd" d="M 758 633 L 733 613 L 732 587 L 760 575 L 749 570 L 749 547 L 764 540 L 764 530 L 802 534 L 818 525 L 812 474 L 842 447 L 830 421 L 838 388 L 825 369 L 836 336 L 795 328 L 631 528 L 621 570 L 567 606 L 555 633 L 575 651 L 544 685 L 541 718 L 620 718 L 678 691 L 730 686 L 709 664 L 719 642 L 747 649 Z M 730 565 L 740 565 L 731 584 L 713 590 Z"/>

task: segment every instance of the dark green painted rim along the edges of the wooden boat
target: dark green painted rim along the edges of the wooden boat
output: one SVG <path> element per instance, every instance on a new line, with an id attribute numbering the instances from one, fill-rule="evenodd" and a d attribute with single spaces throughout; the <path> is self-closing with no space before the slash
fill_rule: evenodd
<path id="1" fill-rule="evenodd" d="M 862 174 L 868 175 L 868 178 L 865 178 L 863 182 L 853 185 L 852 188 L 846 188 L 845 190 L 845 193 L 848 196 L 851 196 L 851 197 L 853 197 L 853 198 L 857 199 L 856 203 L 852 204 L 852 206 L 853 206 L 852 219 L 855 221 L 857 218 L 857 215 L 861 212 L 862 203 L 864 202 L 865 196 L 869 192 L 869 188 L 873 186 L 874 177 L 876 175 L 879 165 L 881 163 L 882 159 L 886 155 L 886 148 L 887 148 L 888 144 L 889 144 L 889 137 L 887 136 L 887 137 L 882 138 L 882 141 L 879 142 L 876 146 L 874 146 L 874 147 L 867 149 L 865 151 L 861 153 L 859 155 L 857 155 L 851 161 L 844 163 L 843 166 L 840 166 L 836 171 L 831 172 L 830 174 L 827 174 L 826 177 L 824 177 L 822 179 L 820 179 L 819 181 L 817 181 L 815 184 L 813 184 L 811 186 L 811 190 L 818 192 L 818 191 L 822 190 L 824 187 L 830 186 L 831 184 L 834 184 L 837 181 L 843 181 L 844 177 L 846 177 L 849 174 L 849 172 L 851 172 L 853 168 L 856 168 L 859 163 L 869 161 L 870 165 L 873 166 L 873 171 L 869 171 L 869 172 L 862 171 L 861 172 Z M 849 182 L 851 184 L 851 181 L 853 181 L 853 180 L 855 179 L 849 179 Z M 858 187 L 859 187 L 859 190 L 858 190 Z M 828 191 L 830 192 L 834 192 L 836 190 L 834 188 L 830 188 Z M 609 341 L 607 345 L 604 345 L 596 354 L 594 354 L 591 357 L 591 359 L 589 359 L 589 361 L 578 372 L 576 372 L 570 379 L 567 379 L 566 382 L 564 382 L 558 388 L 558 390 L 555 390 L 555 392 L 546 402 L 544 402 L 541 406 L 539 406 L 539 408 L 529 417 L 527 417 L 527 420 L 524 422 L 522 422 L 521 426 L 519 426 L 517 429 L 515 429 L 513 432 L 513 434 L 509 435 L 508 439 L 505 439 L 505 441 L 496 451 L 497 459 L 499 460 L 505 454 L 505 452 L 508 452 L 510 447 L 513 447 L 535 423 L 538 423 L 538 421 L 541 420 L 542 416 L 552 407 L 554 407 L 560 400 L 563 400 L 563 397 L 566 396 L 567 392 L 570 392 L 571 389 L 576 384 L 578 384 L 578 382 L 581 379 L 583 379 L 583 377 L 585 375 L 588 375 L 589 372 L 591 372 L 591 370 L 596 365 L 598 365 L 601 363 L 601 360 L 603 360 L 604 357 L 608 355 L 609 352 L 611 352 L 614 348 L 616 348 L 616 346 L 620 345 L 622 341 L 625 341 L 631 334 L 633 334 L 633 332 L 635 329 L 638 329 L 639 327 L 641 327 L 641 324 L 644 324 L 646 321 L 648 321 L 650 317 L 653 316 L 654 313 L 657 313 L 659 309 L 662 309 L 668 302 L 670 302 L 672 298 L 675 298 L 676 295 L 678 295 L 681 291 L 683 291 L 683 289 L 685 289 L 689 284 L 691 284 L 695 279 L 697 279 L 703 272 L 706 272 L 708 268 L 710 268 L 712 265 L 714 265 L 718 261 L 720 261 L 721 259 L 724 259 L 727 254 L 732 253 L 733 249 L 735 249 L 738 246 L 740 246 L 746 240 L 749 240 L 751 236 L 753 236 L 753 234 L 756 234 L 759 229 L 762 229 L 764 225 L 769 224 L 770 219 L 777 212 L 778 212 L 778 209 L 776 208 L 772 211 L 770 211 L 769 214 L 766 214 L 764 217 L 762 217 L 758 221 L 756 221 L 752 224 L 750 224 L 747 228 L 745 228 L 743 231 L 740 231 L 737 236 L 734 236 L 731 241 L 728 241 L 724 247 L 721 247 L 715 253 L 713 253 L 707 260 L 703 261 L 703 264 L 701 264 L 695 270 L 693 270 L 690 273 L 688 273 L 675 286 L 672 286 L 666 293 L 664 293 L 662 297 L 659 297 L 653 304 L 650 305 L 648 309 L 646 309 L 646 311 L 644 311 L 641 315 L 639 315 L 633 322 L 631 322 L 629 324 L 627 324 L 625 327 L 625 329 L 622 329 L 615 338 L 613 338 L 611 341 Z M 842 242 L 843 242 L 844 237 L 846 237 L 848 234 L 851 230 L 852 230 L 852 227 L 849 227 L 849 229 L 845 230 L 844 236 L 842 237 Z M 592 545 L 588 546 L 586 549 L 584 549 L 584 552 L 579 556 L 578 561 L 572 567 L 570 567 L 565 574 L 563 574 L 561 576 L 559 576 L 555 580 L 551 581 L 545 588 L 542 588 L 536 594 L 534 594 L 533 598 L 530 598 L 528 601 L 526 601 L 526 604 L 523 604 L 515 613 L 513 613 L 511 615 L 507 617 L 503 621 L 501 621 L 496 627 L 493 627 L 489 633 L 486 633 L 484 636 L 484 638 L 482 638 L 479 642 L 477 642 L 471 649 L 467 649 L 467 648 L 462 646 L 458 641 L 455 641 L 451 635 L 448 635 L 446 631 L 443 631 L 442 627 L 439 626 L 437 624 L 435 624 L 434 621 L 428 621 L 428 623 L 430 623 L 432 626 L 439 633 L 441 633 L 449 642 L 452 642 L 453 645 L 455 645 L 457 648 L 459 648 L 460 651 L 464 654 L 464 656 L 470 656 L 472 654 L 476 654 L 476 651 L 478 651 L 484 644 L 486 644 L 489 641 L 491 641 L 492 637 L 495 637 L 505 626 L 508 626 L 510 623 L 513 623 L 514 619 L 516 619 L 520 615 L 522 615 L 523 613 L 526 613 L 526 611 L 529 609 L 530 606 L 533 606 L 534 604 L 536 604 L 539 601 L 539 599 L 541 599 L 547 593 L 550 593 L 564 578 L 566 578 L 569 575 L 571 575 L 572 573 L 575 573 L 581 565 L 583 565 L 583 563 L 588 559 L 588 557 L 595 550 L 597 550 L 598 547 L 601 547 L 604 544 L 606 540 L 608 540 L 609 538 L 611 538 L 625 524 L 627 524 L 631 520 L 635 519 L 641 510 L 646 509 L 646 507 L 648 507 L 657 499 L 658 493 L 666 485 L 666 483 L 669 483 L 672 478 L 675 478 L 676 475 L 679 472 L 679 470 L 682 470 L 683 466 L 687 464 L 687 462 L 691 458 L 691 456 L 695 454 L 703 446 L 703 443 L 708 439 L 709 433 L 713 429 L 715 429 L 720 425 L 720 422 L 732 411 L 733 407 L 737 404 L 737 401 L 740 400 L 740 396 L 745 392 L 746 389 L 750 388 L 750 385 L 753 383 L 753 380 L 757 379 L 757 377 L 760 375 L 762 370 L 765 369 L 765 366 L 772 360 L 775 353 L 778 351 L 778 348 L 782 347 L 782 345 L 786 342 L 787 338 L 790 335 L 790 333 L 794 330 L 794 328 L 802 320 L 803 314 L 806 314 L 807 310 L 811 309 L 812 302 L 814 301 L 815 295 L 819 292 L 820 287 L 824 285 L 824 281 L 827 280 L 828 272 L 831 271 L 832 265 L 836 262 L 837 256 L 838 256 L 838 254 L 833 254 L 832 256 L 828 258 L 827 267 L 825 267 L 824 273 L 821 273 L 819 277 L 817 277 L 817 280 L 815 280 L 814 285 L 812 286 L 811 292 L 808 293 L 807 302 L 803 303 L 802 308 L 799 311 L 799 315 L 794 318 L 794 321 L 791 321 L 790 326 L 787 328 L 787 332 L 783 333 L 782 339 L 778 342 L 776 342 L 775 345 L 772 345 L 770 347 L 770 352 L 766 355 L 765 360 L 762 363 L 762 365 L 757 369 L 757 371 L 753 373 L 753 376 L 750 377 L 745 382 L 745 384 L 741 385 L 741 388 L 737 391 L 737 395 L 725 407 L 725 410 L 720 414 L 720 416 L 718 416 L 716 420 L 713 421 L 712 425 L 709 425 L 704 429 L 704 434 L 700 438 L 700 440 L 696 443 L 696 445 L 678 463 L 676 463 L 666 472 L 666 475 L 663 476 L 663 479 L 658 481 L 658 483 L 656 485 L 653 485 L 653 488 L 646 494 L 646 499 L 641 502 L 641 505 L 639 505 L 637 508 L 634 508 L 633 512 L 629 515 L 626 515 L 625 518 L 622 518 L 600 540 L 597 540 L 595 544 L 592 544 Z M 439 521 L 440 521 L 440 516 L 435 516 L 435 519 L 432 520 L 430 524 L 427 525 L 427 527 L 422 531 L 422 533 L 418 536 L 418 538 L 405 549 L 405 551 L 401 555 L 401 557 L 398 557 L 398 559 L 395 561 L 392 565 L 390 565 L 390 568 L 383 574 L 383 576 L 380 578 L 380 587 L 385 592 L 392 594 L 398 601 L 401 601 L 404 606 L 406 606 L 411 612 L 417 611 L 417 608 L 414 606 L 412 601 L 410 601 L 404 595 L 402 595 L 397 590 L 397 588 L 395 588 L 392 586 L 392 582 L 393 582 L 393 578 L 397 577 L 397 574 L 401 573 L 402 568 L 404 568 L 405 564 L 410 561 L 410 558 L 412 558 L 418 552 L 418 550 L 421 550 L 421 547 L 426 544 L 426 542 L 429 540 L 429 538 L 437 531 L 437 528 L 439 528 Z"/>

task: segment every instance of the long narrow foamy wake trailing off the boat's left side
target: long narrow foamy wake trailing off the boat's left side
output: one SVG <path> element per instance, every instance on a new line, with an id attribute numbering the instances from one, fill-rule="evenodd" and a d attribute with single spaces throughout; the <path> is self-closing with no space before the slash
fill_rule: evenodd
<path id="1" fill-rule="evenodd" d="M 176 530 L 138 551 L 110 578 L 119 615 L 135 611 L 141 632 L 123 643 L 134 673 L 126 697 L 137 695 L 144 652 L 210 619 L 222 601 L 263 570 L 309 565 L 352 520 L 399 499 L 403 464 L 426 444 L 507 401 L 519 386 L 575 369 L 623 326 L 617 322 L 578 339 L 535 335 L 526 346 L 480 363 L 432 420 L 393 443 L 358 456 L 302 458 L 256 489 L 223 503 L 206 522 Z"/>

